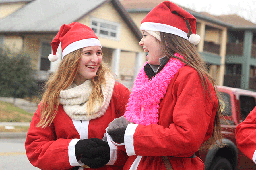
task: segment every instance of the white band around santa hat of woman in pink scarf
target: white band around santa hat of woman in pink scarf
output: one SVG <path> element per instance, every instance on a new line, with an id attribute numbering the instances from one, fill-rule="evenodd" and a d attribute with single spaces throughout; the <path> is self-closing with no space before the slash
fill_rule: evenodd
<path id="1" fill-rule="evenodd" d="M 182 37 L 186 40 L 189 40 L 186 32 L 182 31 L 179 28 L 173 27 L 171 25 L 166 25 L 166 24 L 161 24 L 156 22 L 143 22 L 141 23 L 141 30 L 170 33 L 170 34 L 178 35 L 179 37 Z"/>

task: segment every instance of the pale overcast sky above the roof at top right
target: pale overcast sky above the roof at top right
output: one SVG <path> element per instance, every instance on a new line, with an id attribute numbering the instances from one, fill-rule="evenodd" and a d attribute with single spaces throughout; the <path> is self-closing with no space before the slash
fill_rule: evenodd
<path id="1" fill-rule="evenodd" d="M 212 15 L 237 14 L 256 24 L 255 0 L 170 0 L 196 12 L 208 12 Z"/>

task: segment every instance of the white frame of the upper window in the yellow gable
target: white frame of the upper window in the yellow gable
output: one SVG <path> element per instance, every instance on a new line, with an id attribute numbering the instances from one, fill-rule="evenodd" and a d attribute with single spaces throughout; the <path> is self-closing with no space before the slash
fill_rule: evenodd
<path id="1" fill-rule="evenodd" d="M 97 22 L 97 26 L 92 25 L 92 22 Z M 112 26 L 116 26 L 117 30 L 114 32 L 116 33 L 116 37 L 112 37 L 110 34 L 110 31 L 114 31 L 108 28 L 102 28 L 100 27 L 100 24 L 107 24 L 107 25 L 112 25 Z M 95 33 L 98 37 L 103 37 L 103 38 L 108 38 L 108 39 L 113 39 L 113 40 L 120 40 L 120 32 L 121 32 L 121 24 L 117 23 L 117 22 L 113 22 L 113 21 L 108 21 L 108 20 L 104 20 L 101 18 L 95 18 L 95 17 L 91 17 L 90 18 L 90 27 L 92 29 L 96 29 L 97 32 Z M 102 31 L 108 31 L 108 35 L 104 35 L 104 34 L 100 34 L 100 30 Z"/>

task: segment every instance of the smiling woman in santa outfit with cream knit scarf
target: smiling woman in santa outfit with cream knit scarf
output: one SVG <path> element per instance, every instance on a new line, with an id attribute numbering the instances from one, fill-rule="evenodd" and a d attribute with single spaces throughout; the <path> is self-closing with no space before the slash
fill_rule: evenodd
<path id="1" fill-rule="evenodd" d="M 104 134 L 114 118 L 123 116 L 130 91 L 102 62 L 92 29 L 79 22 L 62 25 L 51 43 L 52 62 L 59 43 L 62 60 L 27 133 L 28 159 L 40 169 L 122 169 L 126 153 Z"/>

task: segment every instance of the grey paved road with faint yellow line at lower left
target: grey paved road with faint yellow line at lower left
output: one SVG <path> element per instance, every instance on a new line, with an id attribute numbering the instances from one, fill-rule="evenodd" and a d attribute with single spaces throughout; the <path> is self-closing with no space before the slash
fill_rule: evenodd
<path id="1" fill-rule="evenodd" d="M 0 139 L 1 170 L 39 170 L 31 165 L 26 156 L 25 140 L 24 137 Z"/>

